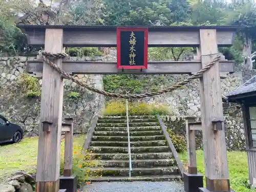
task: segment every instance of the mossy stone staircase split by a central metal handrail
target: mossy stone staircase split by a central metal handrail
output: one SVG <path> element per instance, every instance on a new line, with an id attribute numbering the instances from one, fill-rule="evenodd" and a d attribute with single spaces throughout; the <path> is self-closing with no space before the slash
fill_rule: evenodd
<path id="1" fill-rule="evenodd" d="M 180 180 L 179 169 L 155 116 L 130 116 L 132 178 L 129 179 L 125 116 L 99 117 L 89 150 L 100 157 L 100 181 Z M 94 171 L 99 168 L 91 168 Z"/>

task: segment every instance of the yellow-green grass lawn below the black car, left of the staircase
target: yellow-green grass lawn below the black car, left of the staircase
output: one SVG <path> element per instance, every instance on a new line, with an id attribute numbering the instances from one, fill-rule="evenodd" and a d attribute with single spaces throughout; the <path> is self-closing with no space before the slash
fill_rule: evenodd
<path id="1" fill-rule="evenodd" d="M 73 152 L 80 151 L 84 143 L 84 135 L 76 135 L 73 139 Z M 61 141 L 61 156 L 64 143 Z M 0 181 L 17 170 L 35 172 L 38 137 L 24 138 L 20 143 L 0 145 Z M 62 158 L 63 159 L 63 158 Z"/>

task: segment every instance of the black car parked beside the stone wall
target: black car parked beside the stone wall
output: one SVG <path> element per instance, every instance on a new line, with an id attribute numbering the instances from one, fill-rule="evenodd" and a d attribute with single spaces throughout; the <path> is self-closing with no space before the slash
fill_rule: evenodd
<path id="1" fill-rule="evenodd" d="M 0 115 L 0 143 L 18 143 L 23 138 L 23 129 Z"/>

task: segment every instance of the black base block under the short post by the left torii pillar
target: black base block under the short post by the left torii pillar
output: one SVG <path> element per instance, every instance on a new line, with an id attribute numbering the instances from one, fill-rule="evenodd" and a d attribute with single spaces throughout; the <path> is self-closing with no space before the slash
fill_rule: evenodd
<path id="1" fill-rule="evenodd" d="M 66 192 L 77 192 L 77 176 L 70 177 L 61 176 L 59 178 L 59 188 L 67 189 Z"/>

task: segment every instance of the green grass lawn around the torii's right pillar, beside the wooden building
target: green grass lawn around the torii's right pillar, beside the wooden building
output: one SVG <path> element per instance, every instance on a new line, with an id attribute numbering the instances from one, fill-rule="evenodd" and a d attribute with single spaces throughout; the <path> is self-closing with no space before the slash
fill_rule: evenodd
<path id="1" fill-rule="evenodd" d="M 248 188 L 249 176 L 246 152 L 227 152 L 227 157 L 231 189 L 236 192 L 256 192 L 256 189 Z M 180 154 L 180 158 L 186 165 L 186 153 Z M 203 151 L 197 151 L 197 168 L 202 175 L 204 175 L 203 161 Z"/>

